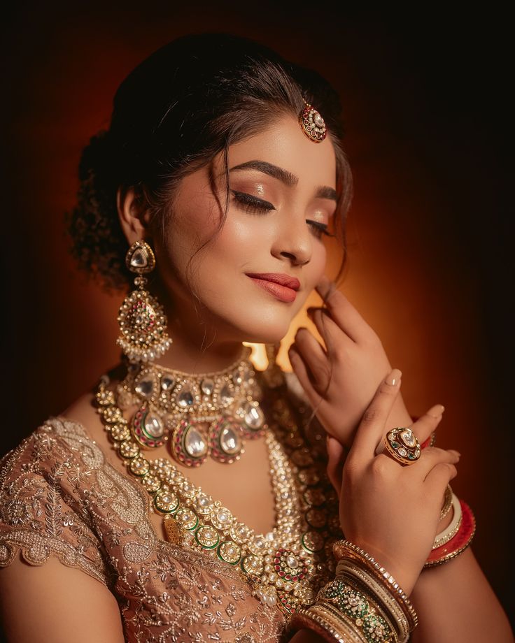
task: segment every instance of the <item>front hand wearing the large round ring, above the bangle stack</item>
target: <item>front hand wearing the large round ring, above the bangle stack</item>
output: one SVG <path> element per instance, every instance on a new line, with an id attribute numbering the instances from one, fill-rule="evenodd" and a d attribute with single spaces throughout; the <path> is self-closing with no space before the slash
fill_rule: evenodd
<path id="1" fill-rule="evenodd" d="M 394 369 L 379 385 L 346 458 L 340 490 L 340 523 L 347 540 L 365 549 L 411 593 L 437 534 L 444 491 L 457 475 L 457 451 L 428 447 L 411 465 L 376 455 L 390 428 L 388 414 L 399 394 Z M 393 382 L 393 383 L 392 383 Z M 442 419 L 436 405 L 412 431 L 423 442 Z M 334 484 L 334 479 L 333 479 Z"/>

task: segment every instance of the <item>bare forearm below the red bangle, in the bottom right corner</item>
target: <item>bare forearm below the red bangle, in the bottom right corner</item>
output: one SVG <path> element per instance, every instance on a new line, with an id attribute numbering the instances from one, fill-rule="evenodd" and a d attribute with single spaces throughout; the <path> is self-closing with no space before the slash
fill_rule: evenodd
<path id="1" fill-rule="evenodd" d="M 469 548 L 423 570 L 411 593 L 418 613 L 413 643 L 512 643 L 507 616 Z"/>

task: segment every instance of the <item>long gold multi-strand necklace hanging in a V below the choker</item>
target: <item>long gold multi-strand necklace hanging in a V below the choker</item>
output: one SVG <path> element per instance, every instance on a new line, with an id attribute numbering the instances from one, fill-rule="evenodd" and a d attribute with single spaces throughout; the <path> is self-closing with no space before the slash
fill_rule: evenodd
<path id="1" fill-rule="evenodd" d="M 262 401 L 270 418 L 264 433 L 276 512 L 276 524 L 267 534 L 239 521 L 171 461 L 143 456 L 106 376 L 96 397 L 116 451 L 152 496 L 155 511 L 164 516 L 168 540 L 237 566 L 262 602 L 290 614 L 311 605 L 334 571 L 332 543 L 341 530 L 322 450 L 306 442 L 288 405 L 284 379 L 279 384 L 274 375 L 274 388 L 267 389 Z"/>

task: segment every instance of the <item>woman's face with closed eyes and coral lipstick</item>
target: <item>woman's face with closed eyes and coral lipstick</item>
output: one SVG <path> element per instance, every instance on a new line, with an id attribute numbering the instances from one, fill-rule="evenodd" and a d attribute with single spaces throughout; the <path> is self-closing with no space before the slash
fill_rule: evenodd
<path id="1" fill-rule="evenodd" d="M 324 230 L 336 208 L 334 149 L 329 138 L 311 142 L 285 116 L 232 145 L 228 168 L 223 228 L 220 154 L 181 181 L 168 228 L 155 241 L 173 301 L 168 314 L 218 342 L 277 342 L 324 273 Z"/>

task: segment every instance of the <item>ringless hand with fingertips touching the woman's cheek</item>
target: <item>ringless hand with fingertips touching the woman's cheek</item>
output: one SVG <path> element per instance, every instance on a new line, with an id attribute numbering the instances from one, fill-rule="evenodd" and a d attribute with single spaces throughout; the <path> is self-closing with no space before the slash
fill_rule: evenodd
<path id="1" fill-rule="evenodd" d="M 325 348 L 307 328 L 299 328 L 289 351 L 297 375 L 325 431 L 349 448 L 367 405 L 392 370 L 376 333 L 327 277 L 317 286 L 325 308 L 309 315 Z M 402 396 L 390 413 L 392 426 L 407 426 L 411 417 Z"/>

